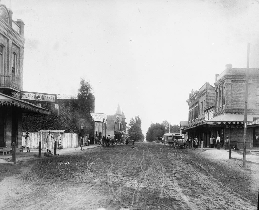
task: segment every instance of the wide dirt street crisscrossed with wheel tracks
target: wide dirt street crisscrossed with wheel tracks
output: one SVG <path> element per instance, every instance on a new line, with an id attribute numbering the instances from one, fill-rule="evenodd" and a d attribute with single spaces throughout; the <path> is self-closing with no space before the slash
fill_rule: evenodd
<path id="1" fill-rule="evenodd" d="M 1 209 L 257 209 L 258 171 L 156 143 L 26 161 Z"/>

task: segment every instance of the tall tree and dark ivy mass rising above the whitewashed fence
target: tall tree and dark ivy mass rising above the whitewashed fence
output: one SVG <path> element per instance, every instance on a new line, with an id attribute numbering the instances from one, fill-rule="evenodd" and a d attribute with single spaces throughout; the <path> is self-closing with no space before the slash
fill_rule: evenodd
<path id="1" fill-rule="evenodd" d="M 42 102 L 42 107 L 53 109 L 53 104 Z M 65 100 L 59 103 L 59 115 L 34 115 L 23 121 L 23 131 L 37 132 L 41 129 L 66 130 L 66 132 L 80 133 L 80 126 L 84 125 L 84 131 L 92 129 L 90 111 L 94 106 L 92 86 L 85 79 L 81 79 L 77 99 Z"/>

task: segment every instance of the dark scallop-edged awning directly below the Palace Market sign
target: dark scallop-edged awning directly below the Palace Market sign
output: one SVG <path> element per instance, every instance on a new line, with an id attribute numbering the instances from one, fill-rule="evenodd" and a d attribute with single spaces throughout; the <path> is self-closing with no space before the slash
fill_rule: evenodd
<path id="1" fill-rule="evenodd" d="M 0 105 L 5 106 L 16 106 L 23 109 L 23 113 L 37 113 L 51 115 L 51 111 L 45 108 L 36 106 L 34 104 L 22 101 L 11 96 L 4 95 L 0 93 Z"/>

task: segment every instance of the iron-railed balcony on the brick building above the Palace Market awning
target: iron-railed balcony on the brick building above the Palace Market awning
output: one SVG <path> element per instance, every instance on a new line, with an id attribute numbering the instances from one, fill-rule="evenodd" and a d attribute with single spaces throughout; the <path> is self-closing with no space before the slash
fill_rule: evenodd
<path id="1" fill-rule="evenodd" d="M 6 87 L 21 90 L 21 79 L 12 74 L 0 74 L 0 88 Z"/>

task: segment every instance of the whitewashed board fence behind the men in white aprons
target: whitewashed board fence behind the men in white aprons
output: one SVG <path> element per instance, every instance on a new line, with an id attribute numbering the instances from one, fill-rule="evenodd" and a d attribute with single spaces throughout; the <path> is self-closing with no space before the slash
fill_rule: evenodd
<path id="1" fill-rule="evenodd" d="M 61 143 L 61 148 L 74 148 L 78 147 L 78 134 L 76 133 L 51 133 L 54 136 L 54 139 L 58 143 Z M 23 132 L 23 135 L 26 135 L 26 132 Z M 46 132 L 30 132 L 30 148 L 35 149 L 39 148 L 39 142 L 41 141 L 42 149 L 46 149 L 46 138 L 48 133 Z M 22 139 L 22 145 L 25 145 L 25 137 Z M 52 149 L 54 149 L 54 140 L 52 139 Z"/>

